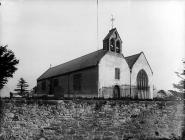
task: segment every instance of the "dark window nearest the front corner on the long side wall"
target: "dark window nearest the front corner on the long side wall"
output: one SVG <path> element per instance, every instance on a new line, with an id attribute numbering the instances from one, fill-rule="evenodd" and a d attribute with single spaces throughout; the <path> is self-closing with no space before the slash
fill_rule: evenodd
<path id="1" fill-rule="evenodd" d="M 81 90 L 81 83 L 82 83 L 82 75 L 75 74 L 73 76 L 73 89 L 74 90 Z"/>

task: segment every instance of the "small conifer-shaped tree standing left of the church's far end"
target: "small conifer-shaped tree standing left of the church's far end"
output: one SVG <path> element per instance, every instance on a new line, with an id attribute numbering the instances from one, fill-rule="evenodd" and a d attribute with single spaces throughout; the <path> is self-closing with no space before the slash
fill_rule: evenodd
<path id="1" fill-rule="evenodd" d="M 19 95 L 24 96 L 29 91 L 28 86 L 29 86 L 28 83 L 23 78 L 20 78 L 15 91 L 17 91 Z"/>

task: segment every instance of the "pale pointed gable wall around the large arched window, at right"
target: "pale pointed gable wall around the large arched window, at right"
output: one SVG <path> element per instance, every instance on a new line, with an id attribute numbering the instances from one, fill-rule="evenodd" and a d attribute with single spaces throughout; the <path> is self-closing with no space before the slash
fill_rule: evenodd
<path id="1" fill-rule="evenodd" d="M 137 75 L 138 72 L 142 69 L 146 72 L 148 76 L 148 92 L 138 92 L 137 90 Z M 131 73 L 131 84 L 132 97 L 135 97 L 136 94 L 138 94 L 138 98 L 153 98 L 153 73 L 143 53 L 139 56 L 138 60 L 133 65 Z"/>

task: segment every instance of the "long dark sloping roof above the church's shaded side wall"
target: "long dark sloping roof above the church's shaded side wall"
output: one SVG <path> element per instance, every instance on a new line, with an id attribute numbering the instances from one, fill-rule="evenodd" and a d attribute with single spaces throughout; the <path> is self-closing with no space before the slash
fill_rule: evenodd
<path id="1" fill-rule="evenodd" d="M 62 75 L 65 73 L 70 73 L 84 68 L 96 66 L 106 52 L 107 51 L 101 49 L 101 50 L 89 53 L 87 55 L 81 56 L 79 58 L 73 59 L 71 61 L 68 61 L 66 63 L 49 68 L 37 80 L 39 81 L 42 79 L 47 79 L 47 78 Z"/>

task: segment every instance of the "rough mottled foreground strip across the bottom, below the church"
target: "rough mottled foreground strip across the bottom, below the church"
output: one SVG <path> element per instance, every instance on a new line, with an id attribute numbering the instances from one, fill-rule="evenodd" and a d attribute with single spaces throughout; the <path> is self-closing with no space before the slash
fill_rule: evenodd
<path id="1" fill-rule="evenodd" d="M 3 140 L 183 139 L 182 101 L 2 101 Z"/>

